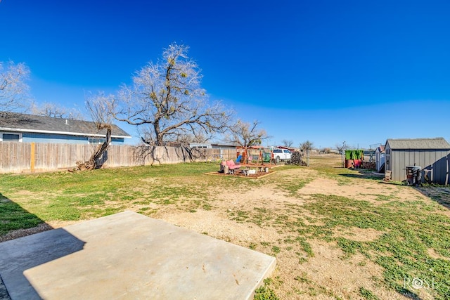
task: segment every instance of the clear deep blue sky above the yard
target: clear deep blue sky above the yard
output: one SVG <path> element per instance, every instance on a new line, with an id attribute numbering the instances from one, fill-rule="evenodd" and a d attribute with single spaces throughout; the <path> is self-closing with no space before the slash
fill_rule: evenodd
<path id="1" fill-rule="evenodd" d="M 450 141 L 449 15 L 444 0 L 2 0 L 0 61 L 30 67 L 37 103 L 83 108 L 176 42 L 265 144 Z"/>

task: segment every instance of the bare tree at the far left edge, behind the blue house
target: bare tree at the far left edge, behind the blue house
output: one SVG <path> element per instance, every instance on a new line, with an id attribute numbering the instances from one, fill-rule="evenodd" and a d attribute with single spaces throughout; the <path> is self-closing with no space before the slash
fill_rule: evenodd
<path id="1" fill-rule="evenodd" d="M 14 64 L 0 62 L 0 110 L 14 111 L 23 108 L 27 97 L 28 85 L 25 81 L 30 70 L 25 63 Z"/>

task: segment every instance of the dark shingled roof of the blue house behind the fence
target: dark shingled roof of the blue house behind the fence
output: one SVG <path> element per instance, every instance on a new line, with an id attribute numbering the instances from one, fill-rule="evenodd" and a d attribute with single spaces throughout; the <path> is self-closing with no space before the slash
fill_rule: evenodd
<path id="1" fill-rule="evenodd" d="M 0 112 L 0 130 L 57 133 L 72 136 L 105 136 L 94 122 L 19 114 L 16 112 Z M 131 136 L 113 124 L 111 136 L 114 138 L 131 138 Z"/>

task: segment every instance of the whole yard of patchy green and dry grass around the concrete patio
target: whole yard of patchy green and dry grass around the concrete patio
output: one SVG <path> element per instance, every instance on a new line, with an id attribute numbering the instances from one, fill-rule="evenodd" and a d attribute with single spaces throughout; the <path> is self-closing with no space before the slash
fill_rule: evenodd
<path id="1" fill-rule="evenodd" d="M 281 167 L 254 181 L 207 176 L 217 166 L 195 164 L 98 170 L 103 183 L 60 174 L 50 191 L 25 188 L 27 176 L 15 184 L 0 176 L 0 186 L 8 182 L 4 197 L 53 227 L 133 210 L 276 256 L 267 284 L 280 299 L 448 299 L 449 188 L 386 185 L 340 164 L 333 155 L 312 157 L 311 167 Z M 45 207 L 34 201 L 43 195 Z M 439 287 L 415 289 L 405 285 L 411 278 Z"/>

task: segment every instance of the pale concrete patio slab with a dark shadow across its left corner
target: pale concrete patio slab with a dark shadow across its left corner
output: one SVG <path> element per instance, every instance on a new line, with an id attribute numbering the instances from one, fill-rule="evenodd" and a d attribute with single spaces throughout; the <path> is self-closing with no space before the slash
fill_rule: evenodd
<path id="1" fill-rule="evenodd" d="M 251 299 L 276 265 L 131 211 L 1 242 L 0 254 L 11 299 Z"/>

